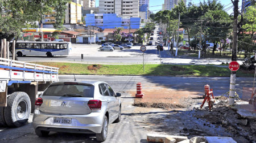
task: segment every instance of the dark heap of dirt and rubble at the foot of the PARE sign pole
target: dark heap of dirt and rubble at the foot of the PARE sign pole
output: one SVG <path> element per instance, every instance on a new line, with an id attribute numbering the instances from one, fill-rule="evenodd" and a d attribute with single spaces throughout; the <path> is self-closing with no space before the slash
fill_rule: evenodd
<path id="1" fill-rule="evenodd" d="M 219 100 L 212 111 L 196 109 L 193 116 L 215 125 L 214 128 L 225 128 L 237 142 L 256 142 L 256 119 L 242 118 L 236 109 L 228 107 L 228 101 Z"/>

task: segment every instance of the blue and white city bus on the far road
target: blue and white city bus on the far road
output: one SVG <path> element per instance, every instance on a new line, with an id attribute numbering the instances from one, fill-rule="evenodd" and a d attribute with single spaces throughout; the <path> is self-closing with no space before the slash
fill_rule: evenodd
<path id="1" fill-rule="evenodd" d="M 17 41 L 15 53 L 18 57 L 25 55 L 68 55 L 72 50 L 71 42 L 34 42 Z"/>

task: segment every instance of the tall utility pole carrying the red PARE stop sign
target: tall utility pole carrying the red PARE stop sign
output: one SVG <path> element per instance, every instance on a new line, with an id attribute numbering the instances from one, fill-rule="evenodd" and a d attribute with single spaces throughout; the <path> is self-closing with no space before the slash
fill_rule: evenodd
<path id="1" fill-rule="evenodd" d="M 232 61 L 237 61 L 237 17 L 238 17 L 238 0 L 232 0 L 234 5 L 234 22 L 233 22 L 233 42 L 232 42 Z M 234 105 L 236 93 L 236 71 L 230 75 L 229 105 Z"/>

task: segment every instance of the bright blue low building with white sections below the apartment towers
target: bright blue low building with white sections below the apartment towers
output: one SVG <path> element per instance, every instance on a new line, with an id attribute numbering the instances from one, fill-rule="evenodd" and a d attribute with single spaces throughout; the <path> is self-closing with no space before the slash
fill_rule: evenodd
<path id="1" fill-rule="evenodd" d="M 141 18 L 120 18 L 117 14 L 86 14 L 85 24 L 86 27 L 92 25 L 102 29 L 115 27 L 139 29 Z"/>

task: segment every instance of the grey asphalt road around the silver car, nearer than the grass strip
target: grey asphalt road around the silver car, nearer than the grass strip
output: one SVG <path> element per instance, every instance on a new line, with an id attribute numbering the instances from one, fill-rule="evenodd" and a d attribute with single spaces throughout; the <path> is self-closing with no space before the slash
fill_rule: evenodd
<path id="1" fill-rule="evenodd" d="M 73 80 L 73 75 L 60 75 L 60 81 Z M 119 123 L 109 125 L 108 138 L 105 142 L 146 142 L 147 133 L 152 133 L 150 128 L 144 128 L 141 119 L 151 117 L 151 109 L 146 114 L 135 114 L 137 107 L 132 106 L 133 98 L 129 91 L 135 91 L 136 83 L 142 85 L 166 86 L 176 90 L 191 90 L 204 93 L 204 85 L 210 84 L 214 96 L 220 96 L 229 89 L 229 77 L 166 77 L 166 76 L 84 76 L 76 75 L 80 80 L 106 81 L 112 86 L 115 92 L 122 93 L 122 120 Z M 242 94 L 242 89 L 251 87 L 253 78 L 237 78 L 237 92 Z M 165 112 L 166 113 L 166 112 Z M 137 115 L 137 116 L 135 116 Z M 161 115 L 161 113 L 160 113 Z M 159 116 L 159 115 L 158 115 Z M 38 137 L 35 135 L 32 124 L 19 128 L 1 128 L 0 142 L 96 142 L 95 135 L 84 135 L 75 133 L 55 133 L 49 137 Z"/>

